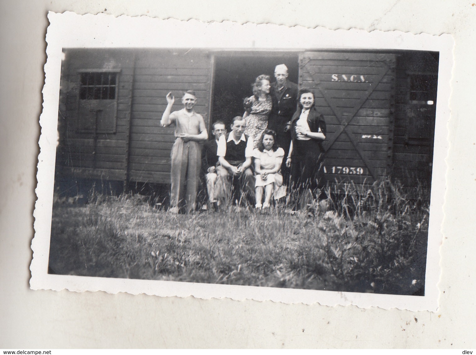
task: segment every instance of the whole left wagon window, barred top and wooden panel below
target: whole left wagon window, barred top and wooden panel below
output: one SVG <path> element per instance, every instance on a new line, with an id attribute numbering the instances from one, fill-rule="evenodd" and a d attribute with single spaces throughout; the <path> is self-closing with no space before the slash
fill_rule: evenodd
<path id="1" fill-rule="evenodd" d="M 78 76 L 78 131 L 115 133 L 119 70 L 81 69 Z"/>

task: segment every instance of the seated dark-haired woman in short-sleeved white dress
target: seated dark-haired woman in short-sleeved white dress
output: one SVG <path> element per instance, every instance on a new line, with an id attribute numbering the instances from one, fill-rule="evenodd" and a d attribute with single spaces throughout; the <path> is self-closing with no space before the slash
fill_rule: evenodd
<path id="1" fill-rule="evenodd" d="M 256 184 L 255 198 L 256 208 L 266 209 L 269 207 L 271 196 L 282 184 L 283 177 L 279 173 L 284 158 L 284 150 L 279 148 L 276 142 L 276 133 L 266 129 L 261 135 L 258 148 L 253 151 L 255 158 Z M 264 202 L 263 192 L 265 194 Z"/>

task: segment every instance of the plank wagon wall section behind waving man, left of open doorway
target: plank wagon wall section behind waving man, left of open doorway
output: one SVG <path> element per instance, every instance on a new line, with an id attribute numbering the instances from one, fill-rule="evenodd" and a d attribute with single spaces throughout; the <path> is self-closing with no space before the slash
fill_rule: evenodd
<path id="1" fill-rule="evenodd" d="M 172 111 L 183 108 L 181 97 L 195 90 L 195 111 L 208 126 L 211 59 L 206 51 L 148 50 L 137 54 L 131 110 L 129 179 L 170 183 L 170 151 L 174 127 L 160 127 L 167 107 L 165 96 L 175 96 Z"/>

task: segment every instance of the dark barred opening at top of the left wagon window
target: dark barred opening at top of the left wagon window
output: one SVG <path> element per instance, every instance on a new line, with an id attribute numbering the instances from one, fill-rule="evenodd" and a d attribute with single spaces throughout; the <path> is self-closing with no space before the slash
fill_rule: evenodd
<path id="1" fill-rule="evenodd" d="M 80 73 L 79 99 L 114 100 L 116 98 L 117 73 Z"/>

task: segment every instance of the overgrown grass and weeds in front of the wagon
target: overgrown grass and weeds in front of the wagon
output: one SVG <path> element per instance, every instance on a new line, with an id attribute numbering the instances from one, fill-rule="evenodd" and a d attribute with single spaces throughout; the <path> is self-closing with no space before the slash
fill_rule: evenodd
<path id="1" fill-rule="evenodd" d="M 381 183 L 311 210 L 174 215 L 139 195 L 56 203 L 50 273 L 422 294 L 425 205 Z"/>

